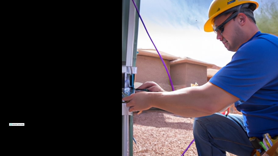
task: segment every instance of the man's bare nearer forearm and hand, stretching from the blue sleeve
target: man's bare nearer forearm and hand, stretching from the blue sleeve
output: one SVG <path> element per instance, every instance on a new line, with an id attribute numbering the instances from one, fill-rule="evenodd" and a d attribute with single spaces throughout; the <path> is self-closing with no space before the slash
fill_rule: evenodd
<path id="1" fill-rule="evenodd" d="M 239 99 L 208 82 L 171 92 L 131 94 L 123 100 L 129 101 L 130 112 L 156 107 L 184 117 L 200 117 L 219 112 Z"/>

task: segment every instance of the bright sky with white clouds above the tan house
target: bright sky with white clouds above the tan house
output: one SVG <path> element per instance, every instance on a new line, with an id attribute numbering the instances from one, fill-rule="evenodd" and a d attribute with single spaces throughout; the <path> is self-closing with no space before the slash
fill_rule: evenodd
<path id="1" fill-rule="evenodd" d="M 254 1 L 260 5 L 259 0 Z M 140 15 L 159 51 L 223 67 L 235 52 L 228 51 L 214 32 L 203 30 L 211 2 L 141 0 Z M 155 49 L 140 19 L 137 48 Z"/>

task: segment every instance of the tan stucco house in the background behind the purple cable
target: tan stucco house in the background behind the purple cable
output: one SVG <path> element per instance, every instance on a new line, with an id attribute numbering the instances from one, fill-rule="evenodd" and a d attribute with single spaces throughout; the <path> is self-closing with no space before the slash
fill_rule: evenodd
<path id="1" fill-rule="evenodd" d="M 154 49 L 137 49 L 137 74 L 135 82 L 154 81 L 166 91 L 172 91 L 168 75 Z M 159 51 L 171 76 L 175 90 L 190 87 L 197 82 L 199 86 L 207 83 L 207 69 L 215 65 L 187 57 L 176 57 Z M 217 67 L 217 66 L 216 66 Z"/>

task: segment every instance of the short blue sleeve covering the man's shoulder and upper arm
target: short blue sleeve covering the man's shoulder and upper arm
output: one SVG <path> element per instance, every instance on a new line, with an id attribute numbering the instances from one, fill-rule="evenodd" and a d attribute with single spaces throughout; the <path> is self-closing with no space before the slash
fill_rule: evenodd
<path id="1" fill-rule="evenodd" d="M 244 44 L 209 82 L 247 101 L 278 78 L 278 48 L 264 38 Z"/>

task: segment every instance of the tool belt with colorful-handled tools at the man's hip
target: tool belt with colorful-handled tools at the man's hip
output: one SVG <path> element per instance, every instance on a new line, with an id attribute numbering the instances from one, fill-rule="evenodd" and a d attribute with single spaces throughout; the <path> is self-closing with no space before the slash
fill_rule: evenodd
<path id="1" fill-rule="evenodd" d="M 278 156 L 278 136 L 270 137 L 268 133 L 263 134 L 263 140 L 257 137 L 249 138 L 252 146 L 255 148 L 251 156 Z M 266 151 L 264 153 L 264 151 Z"/>

